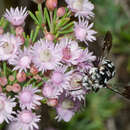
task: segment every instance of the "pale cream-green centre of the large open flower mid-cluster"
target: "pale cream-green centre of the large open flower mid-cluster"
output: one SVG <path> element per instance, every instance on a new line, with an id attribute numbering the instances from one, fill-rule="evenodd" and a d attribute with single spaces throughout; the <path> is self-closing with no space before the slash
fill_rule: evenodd
<path id="1" fill-rule="evenodd" d="M 49 62 L 52 58 L 52 54 L 49 49 L 40 52 L 40 60 L 42 62 Z"/>

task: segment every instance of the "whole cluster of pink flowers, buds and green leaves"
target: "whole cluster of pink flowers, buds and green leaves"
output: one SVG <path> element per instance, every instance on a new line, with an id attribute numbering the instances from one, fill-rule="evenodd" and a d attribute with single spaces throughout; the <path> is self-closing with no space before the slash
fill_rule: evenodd
<path id="1" fill-rule="evenodd" d="M 39 6 L 44 1 L 35 2 Z M 82 79 L 96 60 L 88 49 L 96 40 L 89 22 L 94 5 L 88 0 L 66 0 L 68 9 L 56 10 L 57 2 L 46 1 L 44 17 L 42 10 L 35 17 L 26 7 L 11 8 L 4 14 L 12 30 L 7 32 L 0 25 L 0 124 L 13 121 L 20 130 L 38 129 L 41 103 L 55 108 L 56 119 L 66 122 L 84 105 L 89 89 L 83 87 Z M 68 21 L 73 13 L 78 22 Z M 30 36 L 24 32 L 28 14 L 37 24 Z M 37 39 L 40 29 L 43 37 Z"/>

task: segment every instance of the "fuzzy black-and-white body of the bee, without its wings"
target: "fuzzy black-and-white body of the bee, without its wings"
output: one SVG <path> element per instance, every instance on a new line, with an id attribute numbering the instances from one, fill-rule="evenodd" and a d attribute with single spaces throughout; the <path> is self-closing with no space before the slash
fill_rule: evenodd
<path id="1" fill-rule="evenodd" d="M 84 75 L 82 86 L 87 90 L 97 92 L 100 88 L 106 87 L 110 79 L 115 76 L 115 66 L 112 61 L 103 58 L 99 67 L 93 67 Z"/>

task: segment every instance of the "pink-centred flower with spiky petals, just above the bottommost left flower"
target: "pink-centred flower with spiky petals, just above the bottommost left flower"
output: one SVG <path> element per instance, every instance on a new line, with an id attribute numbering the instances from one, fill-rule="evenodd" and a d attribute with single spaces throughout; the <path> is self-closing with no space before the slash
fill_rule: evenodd
<path id="1" fill-rule="evenodd" d="M 40 92 L 37 88 L 32 88 L 32 85 L 24 87 L 23 90 L 16 96 L 19 99 L 20 107 L 22 109 L 35 109 L 37 105 L 40 105 L 40 100 L 43 97 L 37 95 L 36 93 Z"/>

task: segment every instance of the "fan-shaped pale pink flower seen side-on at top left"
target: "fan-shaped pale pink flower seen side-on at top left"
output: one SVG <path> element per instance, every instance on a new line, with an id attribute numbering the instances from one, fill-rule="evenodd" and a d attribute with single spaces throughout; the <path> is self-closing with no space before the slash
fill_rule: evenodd
<path id="1" fill-rule="evenodd" d="M 28 13 L 25 8 L 10 8 L 10 10 L 6 9 L 6 13 L 4 17 L 14 26 L 20 26 L 24 23 Z"/>

